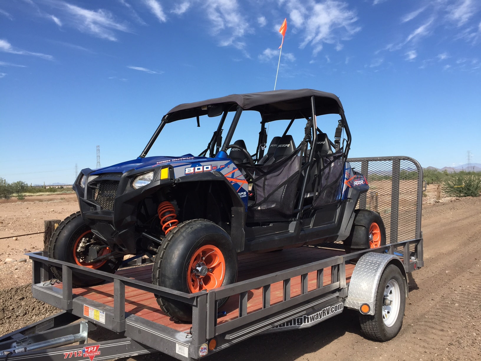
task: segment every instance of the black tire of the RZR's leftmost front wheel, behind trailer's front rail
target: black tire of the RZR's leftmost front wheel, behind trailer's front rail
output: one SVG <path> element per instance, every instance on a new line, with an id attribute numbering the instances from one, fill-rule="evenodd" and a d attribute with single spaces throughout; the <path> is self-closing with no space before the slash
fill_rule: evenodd
<path id="1" fill-rule="evenodd" d="M 49 242 L 49 257 L 59 261 L 79 264 L 76 261 L 74 248 L 82 237 L 89 235 L 91 235 L 90 228 L 84 223 L 80 212 L 71 214 L 60 222 L 57 229 L 53 232 Z M 119 268 L 121 261 L 122 258 L 116 258 L 93 265 L 85 264 L 85 266 L 99 271 L 114 273 Z M 53 275 L 57 279 L 62 280 L 62 269 L 57 267 L 52 267 L 51 269 Z M 72 284 L 74 286 L 93 286 L 102 282 L 101 278 L 72 272 Z"/>

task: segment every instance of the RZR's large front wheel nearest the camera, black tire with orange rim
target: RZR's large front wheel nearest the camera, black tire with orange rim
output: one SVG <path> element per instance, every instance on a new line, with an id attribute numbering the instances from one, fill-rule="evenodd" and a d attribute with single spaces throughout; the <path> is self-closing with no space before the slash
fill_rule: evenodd
<path id="1" fill-rule="evenodd" d="M 206 256 L 206 265 L 215 264 L 210 270 L 216 274 L 208 273 L 202 278 L 207 281 L 203 286 L 199 286 L 199 283 L 196 284 L 193 280 L 195 275 L 192 275 L 192 267 L 195 264 L 192 262 L 196 259 L 196 255 L 198 255 L 197 259 Z M 213 258 L 212 255 L 216 258 Z M 215 259 L 219 262 L 215 263 Z M 224 263 L 222 272 L 219 271 L 222 269 L 221 260 Z M 157 250 L 152 266 L 152 284 L 186 293 L 194 293 L 199 287 L 202 289 L 207 285 L 209 285 L 208 289 L 212 289 L 232 284 L 236 278 L 237 252 L 229 235 L 215 223 L 206 219 L 182 222 L 174 230 L 168 232 Z M 215 281 L 217 279 L 221 279 L 221 284 Z M 192 321 L 192 306 L 158 295 L 156 297 L 160 308 L 174 320 Z M 220 307 L 226 301 L 227 298 L 218 300 L 217 306 Z"/>

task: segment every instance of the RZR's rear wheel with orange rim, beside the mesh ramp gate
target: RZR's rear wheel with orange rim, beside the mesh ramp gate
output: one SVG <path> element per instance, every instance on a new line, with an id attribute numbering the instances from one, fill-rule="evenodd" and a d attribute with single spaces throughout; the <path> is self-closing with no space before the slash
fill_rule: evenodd
<path id="1" fill-rule="evenodd" d="M 367 209 L 354 211 L 353 228 L 344 240 L 346 253 L 386 245 L 386 229 L 381 216 Z"/>

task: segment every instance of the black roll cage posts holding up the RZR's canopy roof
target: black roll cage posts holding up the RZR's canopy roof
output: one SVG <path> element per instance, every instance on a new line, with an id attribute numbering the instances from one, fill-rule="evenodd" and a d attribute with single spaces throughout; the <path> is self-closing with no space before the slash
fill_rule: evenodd
<path id="1" fill-rule="evenodd" d="M 237 124 L 239 123 L 239 119 L 241 118 L 242 110 L 243 109 L 241 108 L 240 105 L 238 105 L 236 107 L 235 114 L 234 114 L 234 117 L 232 119 L 232 123 L 230 124 L 230 127 L 228 129 L 226 137 L 225 137 L 225 139 L 222 143 L 222 146 L 220 147 L 221 152 L 226 152 L 226 149 L 227 149 L 228 145 L 230 144 L 230 142 L 232 140 L 232 136 L 234 135 L 234 131 L 237 128 Z M 219 122 L 219 125 L 217 126 L 217 129 L 215 130 L 209 144 L 207 145 L 207 148 L 201 153 L 201 155 L 205 156 L 207 154 L 207 152 L 209 152 L 209 156 L 212 157 L 215 154 L 219 153 L 219 149 L 216 149 L 216 151 L 214 152 L 215 143 L 216 143 L 217 137 L 221 136 L 222 130 L 223 130 L 222 127 L 224 125 L 224 122 L 227 118 L 228 113 L 231 112 L 231 111 L 233 111 L 232 107 L 224 111 L 224 113 L 222 114 L 221 120 Z M 304 165 L 302 167 L 302 170 L 304 171 L 304 174 L 309 174 L 309 171 L 312 167 L 314 155 L 316 153 L 317 132 L 318 131 L 320 132 L 320 129 L 317 127 L 316 102 L 315 102 L 314 95 L 311 96 L 311 111 L 312 111 L 311 118 L 303 115 L 304 118 L 307 119 L 307 124 L 310 124 L 310 128 L 311 128 L 311 131 L 312 131 L 312 139 L 311 139 L 311 142 L 309 144 L 311 151 L 309 153 L 309 157 L 308 157 L 307 161 L 304 163 Z M 339 126 L 338 126 L 337 130 L 344 129 L 344 131 L 346 132 L 346 134 L 345 134 L 346 138 L 344 139 L 346 143 L 344 144 L 344 147 L 343 147 L 343 150 L 342 150 L 342 161 L 345 162 L 347 160 L 347 155 L 348 155 L 349 149 L 351 147 L 351 132 L 350 132 L 349 127 L 347 125 L 347 121 L 346 121 L 346 117 L 344 115 L 344 111 L 341 107 L 339 107 L 339 115 L 341 116 L 341 119 L 339 120 Z M 160 122 L 159 126 L 157 127 L 157 129 L 153 133 L 152 138 L 149 140 L 149 142 L 145 146 L 145 148 L 142 151 L 142 153 L 140 154 L 139 158 L 144 158 L 147 155 L 147 153 L 149 152 L 149 150 L 152 148 L 153 143 L 156 141 L 156 139 L 159 136 L 162 129 L 164 129 L 165 124 L 167 123 L 168 117 L 169 117 L 169 114 L 167 114 L 166 116 L 164 116 L 162 118 L 162 121 Z M 294 122 L 295 119 L 298 119 L 298 118 L 294 117 L 294 118 L 291 119 L 291 121 L 289 122 L 289 125 L 287 126 L 283 135 L 287 134 L 287 132 L 291 128 L 291 125 L 292 125 L 292 123 Z M 271 121 L 274 121 L 274 120 L 271 120 Z M 264 138 L 263 134 L 264 134 L 265 130 L 266 130 L 266 120 L 265 120 L 265 116 L 263 115 L 262 119 L 261 119 L 261 131 L 259 132 L 259 141 L 257 143 L 257 149 L 256 149 L 256 153 L 255 153 L 257 159 L 262 158 L 262 156 L 264 155 L 264 149 L 265 149 L 266 144 L 262 144 L 261 142 L 263 141 L 263 138 Z M 334 147 L 336 149 L 336 151 L 338 151 L 341 147 L 341 144 L 340 144 L 341 143 L 341 139 L 340 139 L 341 136 L 339 135 L 339 138 L 337 138 L 337 137 L 338 137 L 338 131 L 336 131 L 335 142 L 332 142 L 331 140 L 329 140 L 330 145 L 332 147 Z M 308 177 L 304 177 L 304 179 L 303 179 L 300 194 L 305 193 L 305 188 L 307 186 L 307 179 L 308 179 Z M 296 219 L 297 220 L 301 219 L 303 211 L 309 209 L 310 207 L 311 206 L 304 207 L 304 197 L 300 196 L 297 209 L 294 210 L 294 213 L 297 213 Z"/>

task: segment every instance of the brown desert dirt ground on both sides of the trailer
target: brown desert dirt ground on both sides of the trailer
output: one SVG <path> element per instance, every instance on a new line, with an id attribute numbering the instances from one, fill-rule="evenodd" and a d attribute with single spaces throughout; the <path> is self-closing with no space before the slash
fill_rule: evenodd
<path id="1" fill-rule="evenodd" d="M 394 339 L 365 338 L 356 312 L 345 311 L 311 328 L 254 336 L 208 359 L 481 360 L 481 198 L 434 202 L 428 193 L 424 203 L 425 267 L 409 277 L 403 328 Z M 77 210 L 72 194 L 0 203 L 0 238 L 9 237 L 0 239 L 0 335 L 57 311 L 32 298 L 31 262 L 24 261 L 25 252 L 43 248 L 43 235 L 12 237 L 41 232 L 44 219 L 63 219 Z M 128 360 L 174 359 L 156 354 Z"/>

